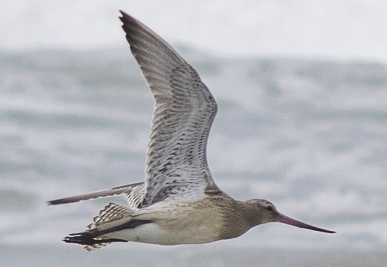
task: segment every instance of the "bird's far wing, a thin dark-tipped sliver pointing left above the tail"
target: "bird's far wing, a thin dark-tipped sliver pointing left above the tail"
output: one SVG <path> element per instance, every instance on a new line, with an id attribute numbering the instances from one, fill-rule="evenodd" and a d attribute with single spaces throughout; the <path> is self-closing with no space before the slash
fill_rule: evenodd
<path id="1" fill-rule="evenodd" d="M 143 188 L 144 188 L 144 183 L 141 182 L 141 183 L 126 185 L 126 186 L 116 187 L 112 189 L 95 191 L 87 194 L 81 194 L 81 195 L 75 195 L 75 196 L 50 200 L 47 203 L 48 205 L 58 205 L 58 204 L 73 203 L 81 200 L 95 199 L 95 198 L 106 197 L 106 196 L 115 196 L 119 194 L 124 194 L 129 201 L 129 195 L 131 194 L 132 191 L 142 191 Z"/>

